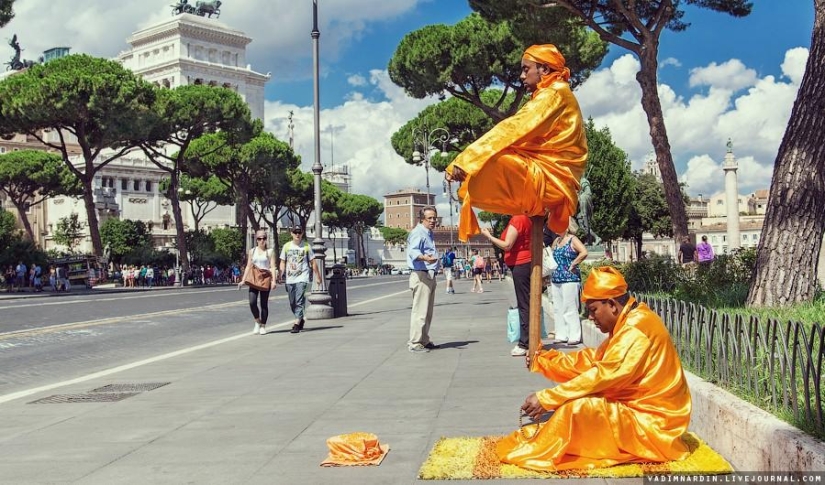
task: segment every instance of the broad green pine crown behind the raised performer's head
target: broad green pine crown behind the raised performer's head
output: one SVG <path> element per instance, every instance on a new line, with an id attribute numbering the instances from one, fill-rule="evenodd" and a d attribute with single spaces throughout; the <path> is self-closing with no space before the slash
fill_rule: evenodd
<path id="1" fill-rule="evenodd" d="M 401 40 L 389 63 L 390 79 L 415 98 L 449 93 L 501 121 L 521 106 L 521 58 L 531 44 L 554 43 L 566 53 L 573 85 L 601 63 L 606 44 L 570 18 L 566 12 L 542 16 L 546 23 L 535 36 L 519 35 L 520 25 L 488 22 L 477 14 L 452 26 L 426 26 Z M 499 96 L 483 99 L 494 86 L 501 87 Z"/>

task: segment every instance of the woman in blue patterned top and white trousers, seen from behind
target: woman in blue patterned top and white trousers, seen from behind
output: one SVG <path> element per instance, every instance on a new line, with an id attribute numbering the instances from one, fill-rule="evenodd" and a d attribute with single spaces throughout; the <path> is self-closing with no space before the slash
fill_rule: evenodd
<path id="1" fill-rule="evenodd" d="M 553 241 L 553 258 L 558 266 L 550 277 L 550 295 L 556 325 L 556 341 L 570 346 L 582 342 L 582 326 L 579 320 L 579 287 L 582 276 L 579 263 L 587 258 L 587 249 L 576 237 L 579 225 L 571 217 L 567 232 Z"/>

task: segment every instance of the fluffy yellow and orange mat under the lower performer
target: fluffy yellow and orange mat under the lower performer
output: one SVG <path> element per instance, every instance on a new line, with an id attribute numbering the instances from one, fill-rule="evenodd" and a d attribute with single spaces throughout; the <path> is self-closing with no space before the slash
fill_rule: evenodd
<path id="1" fill-rule="evenodd" d="M 682 461 L 666 463 L 631 463 L 592 470 L 564 472 L 537 472 L 515 465 L 501 463 L 496 456 L 496 443 L 502 436 L 481 438 L 441 438 L 433 446 L 430 456 L 421 465 L 418 478 L 422 480 L 488 480 L 492 478 L 570 478 L 601 477 L 630 478 L 646 475 L 695 474 L 723 475 L 733 468 L 695 434 L 683 437 L 691 453 Z"/>

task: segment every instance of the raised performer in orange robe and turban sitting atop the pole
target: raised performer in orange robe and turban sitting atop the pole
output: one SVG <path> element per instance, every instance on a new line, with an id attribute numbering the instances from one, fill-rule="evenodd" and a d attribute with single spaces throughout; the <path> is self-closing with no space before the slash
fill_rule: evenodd
<path id="1" fill-rule="evenodd" d="M 550 229 L 567 230 L 576 213 L 587 139 L 564 62 L 552 44 L 527 49 L 521 80 L 532 98 L 447 167 L 447 180 L 464 182 L 458 191 L 462 241 L 479 233 L 473 207 L 497 214 L 548 214 Z"/>

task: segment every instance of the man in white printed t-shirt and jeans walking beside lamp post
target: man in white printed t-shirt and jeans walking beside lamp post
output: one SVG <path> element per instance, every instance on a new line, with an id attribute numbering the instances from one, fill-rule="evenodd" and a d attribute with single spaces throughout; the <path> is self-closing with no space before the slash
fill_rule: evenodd
<path id="1" fill-rule="evenodd" d="M 304 229 L 293 227 L 292 241 L 284 244 L 281 249 L 281 274 L 284 275 L 286 283 L 286 293 L 289 298 L 289 309 L 295 316 L 295 323 L 292 324 L 290 333 L 298 333 L 304 329 L 306 320 L 304 310 L 306 308 L 306 291 L 310 282 L 310 266 L 315 281 L 321 281 L 321 273 L 318 264 L 312 258 L 312 250 L 309 243 L 304 240 Z"/>

